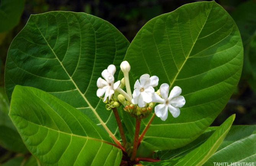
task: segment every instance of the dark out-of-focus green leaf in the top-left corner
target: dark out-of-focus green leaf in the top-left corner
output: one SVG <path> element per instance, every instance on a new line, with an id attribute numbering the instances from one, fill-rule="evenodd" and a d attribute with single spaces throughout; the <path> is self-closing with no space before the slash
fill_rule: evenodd
<path id="1" fill-rule="evenodd" d="M 1 0 L 0 2 L 0 33 L 15 27 L 23 13 L 25 0 Z"/>

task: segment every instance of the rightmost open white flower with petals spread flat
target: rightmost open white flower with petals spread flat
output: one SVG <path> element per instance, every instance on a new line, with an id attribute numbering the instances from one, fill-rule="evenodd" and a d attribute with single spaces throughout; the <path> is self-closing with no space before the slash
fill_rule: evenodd
<path id="1" fill-rule="evenodd" d="M 158 96 L 157 93 L 153 96 L 153 102 L 161 103 L 155 106 L 155 114 L 165 121 L 168 117 L 168 109 L 173 115 L 173 117 L 178 117 L 180 110 L 179 108 L 183 107 L 186 103 L 185 98 L 180 96 L 181 88 L 179 86 L 174 86 L 169 93 L 169 85 L 164 83 L 160 86 L 160 94 L 162 98 Z"/>

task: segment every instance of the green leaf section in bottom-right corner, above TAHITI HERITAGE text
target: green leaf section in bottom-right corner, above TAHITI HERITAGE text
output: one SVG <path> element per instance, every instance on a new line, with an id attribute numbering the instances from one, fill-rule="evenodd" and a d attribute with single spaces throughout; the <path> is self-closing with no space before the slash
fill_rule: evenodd
<path id="1" fill-rule="evenodd" d="M 247 162 L 256 165 L 255 158 L 256 125 L 238 125 L 230 129 L 218 150 L 204 165 L 208 166 L 213 162 Z"/>

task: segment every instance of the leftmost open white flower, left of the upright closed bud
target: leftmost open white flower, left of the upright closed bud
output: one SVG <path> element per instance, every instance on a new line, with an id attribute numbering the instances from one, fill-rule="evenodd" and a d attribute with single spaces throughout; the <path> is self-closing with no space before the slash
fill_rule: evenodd
<path id="1" fill-rule="evenodd" d="M 114 83 L 115 72 L 116 72 L 116 67 L 114 65 L 109 65 L 108 69 L 103 70 L 103 72 L 101 73 L 102 77 L 105 80 L 100 77 L 97 80 L 97 86 L 99 88 L 97 90 L 97 96 L 101 97 L 105 93 L 103 101 L 106 101 L 107 98 L 111 99 L 112 94 L 114 94 L 114 91 L 120 85 L 120 81 L 117 81 L 116 83 Z"/>

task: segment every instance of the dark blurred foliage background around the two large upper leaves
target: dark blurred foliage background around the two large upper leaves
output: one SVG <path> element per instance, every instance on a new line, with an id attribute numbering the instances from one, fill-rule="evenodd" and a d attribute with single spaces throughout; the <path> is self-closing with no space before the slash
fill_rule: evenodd
<path id="1" fill-rule="evenodd" d="M 10 31 L 5 32 L 5 38 L 0 42 L 0 86 L 4 86 L 4 63 L 6 60 L 8 48 L 13 38 L 24 27 L 31 14 L 44 13 L 47 11 L 75 11 L 85 12 L 98 16 L 116 26 L 124 36 L 131 42 L 139 29 L 150 19 L 163 13 L 168 13 L 176 8 L 186 4 L 196 2 L 196 0 L 122 0 L 122 1 L 103 1 L 103 0 L 29 0 L 25 2 L 24 12 L 21 16 L 20 23 Z M 238 10 L 240 5 L 248 3 L 246 0 L 216 0 L 231 15 Z M 255 3 L 256 1 L 251 1 Z M 248 69 L 245 63 L 244 70 L 237 90 L 228 102 L 225 109 L 217 117 L 212 124 L 220 125 L 231 114 L 236 114 L 233 125 L 256 124 L 256 81 L 253 76 L 256 72 L 256 11 L 247 17 L 247 10 L 240 10 L 239 14 L 244 16 L 243 24 L 238 24 L 241 34 L 248 33 L 248 29 L 253 29 L 253 33 L 249 33 L 251 42 L 243 41 L 245 51 L 249 49 L 249 62 L 252 65 Z M 235 14 L 233 14 L 235 16 Z M 232 16 L 233 16 L 232 15 Z M 253 19 L 254 18 L 254 19 Z M 236 21 L 236 19 L 234 18 Z M 239 21 L 239 19 L 238 19 Z M 1 25 L 2 26 L 2 25 Z M 243 36 L 242 36 L 243 37 Z M 243 38 L 244 39 L 244 38 Z M 248 49 L 246 49 L 246 47 Z M 253 66 L 254 65 L 254 66 Z M 1 107 L 0 107 L 1 109 Z M 0 147 L 0 163 L 7 158 L 14 156 L 15 153 L 6 151 Z"/>

